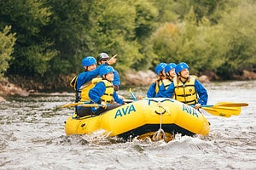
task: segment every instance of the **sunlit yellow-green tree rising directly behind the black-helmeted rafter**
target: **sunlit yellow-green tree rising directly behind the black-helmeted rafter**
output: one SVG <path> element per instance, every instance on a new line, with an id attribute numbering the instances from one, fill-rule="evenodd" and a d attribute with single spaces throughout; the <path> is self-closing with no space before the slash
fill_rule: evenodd
<path id="1" fill-rule="evenodd" d="M 143 40 L 154 29 L 156 16 L 148 1 L 96 1 L 90 8 L 90 53 L 119 54 L 116 69 L 137 69 L 143 62 Z"/>

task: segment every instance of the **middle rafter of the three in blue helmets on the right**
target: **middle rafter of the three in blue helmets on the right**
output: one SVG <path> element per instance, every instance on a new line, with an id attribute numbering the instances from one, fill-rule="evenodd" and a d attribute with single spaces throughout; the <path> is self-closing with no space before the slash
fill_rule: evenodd
<path id="1" fill-rule="evenodd" d="M 165 67 L 166 72 L 166 79 L 163 80 L 162 85 L 159 88 L 158 93 L 156 94 L 157 98 L 163 98 L 165 97 L 166 89 L 170 86 L 170 84 L 173 82 L 174 78 L 176 77 L 175 73 L 175 63 L 169 63 Z"/>

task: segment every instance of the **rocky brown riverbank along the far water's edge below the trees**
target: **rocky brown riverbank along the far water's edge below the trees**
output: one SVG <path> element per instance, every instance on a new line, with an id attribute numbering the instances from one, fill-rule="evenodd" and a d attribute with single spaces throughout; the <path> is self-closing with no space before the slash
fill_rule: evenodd
<path id="1" fill-rule="evenodd" d="M 38 92 L 45 91 L 73 91 L 69 82 L 75 75 L 59 76 L 48 80 L 40 78 L 27 78 L 11 76 L 8 80 L 0 82 L 0 102 L 5 101 L 9 95 L 28 96 Z M 234 75 L 236 80 L 256 80 L 256 73 L 252 71 L 243 71 L 242 75 Z M 200 82 L 218 81 L 219 77 L 214 72 L 205 72 L 199 78 Z M 154 82 L 154 71 L 130 71 L 121 77 L 124 86 L 149 86 Z"/>

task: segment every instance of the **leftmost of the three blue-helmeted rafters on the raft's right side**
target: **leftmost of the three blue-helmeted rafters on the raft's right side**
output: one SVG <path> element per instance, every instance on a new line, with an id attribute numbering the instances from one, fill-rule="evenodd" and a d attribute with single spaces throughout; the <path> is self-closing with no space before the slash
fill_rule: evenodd
<path id="1" fill-rule="evenodd" d="M 160 63 L 159 65 L 156 65 L 154 71 L 157 75 L 157 80 L 153 82 L 148 88 L 148 92 L 147 92 L 148 98 L 156 97 L 156 94 L 158 93 L 159 88 L 163 83 L 163 80 L 166 78 L 165 67 L 166 67 L 166 63 Z"/>

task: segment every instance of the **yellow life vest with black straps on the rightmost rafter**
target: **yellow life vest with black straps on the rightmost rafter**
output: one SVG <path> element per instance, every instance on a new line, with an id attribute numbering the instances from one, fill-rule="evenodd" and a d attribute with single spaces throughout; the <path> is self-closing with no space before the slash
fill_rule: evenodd
<path id="1" fill-rule="evenodd" d="M 195 91 L 195 76 L 189 76 L 189 82 L 174 81 L 175 99 L 187 105 L 195 105 L 198 102 Z"/>

